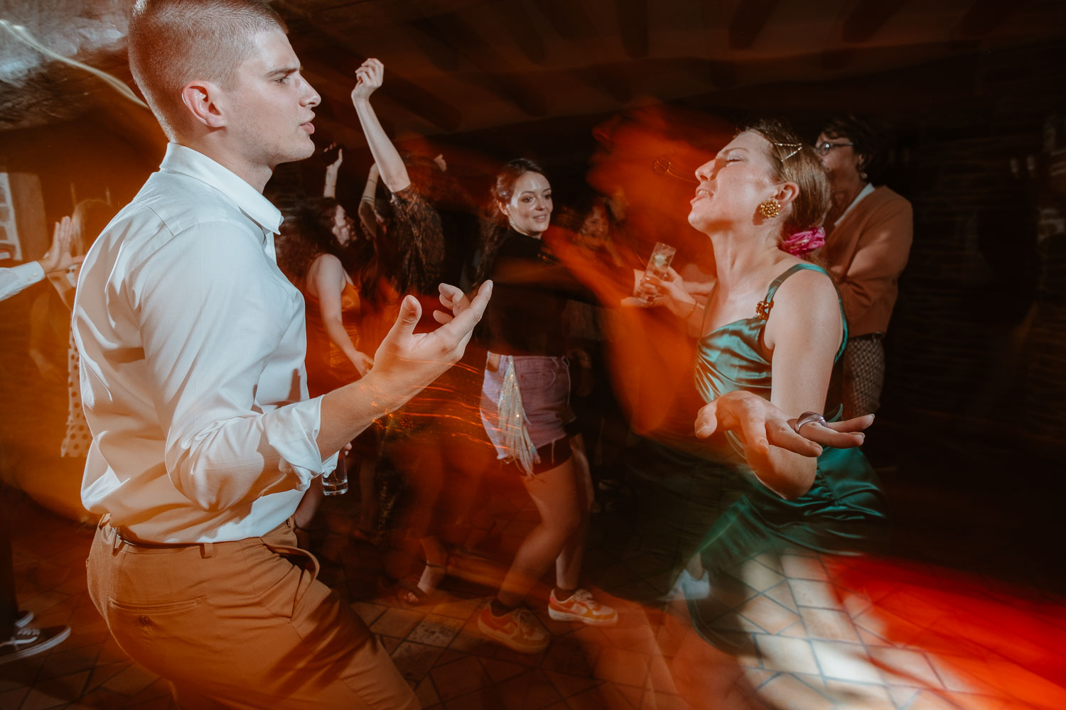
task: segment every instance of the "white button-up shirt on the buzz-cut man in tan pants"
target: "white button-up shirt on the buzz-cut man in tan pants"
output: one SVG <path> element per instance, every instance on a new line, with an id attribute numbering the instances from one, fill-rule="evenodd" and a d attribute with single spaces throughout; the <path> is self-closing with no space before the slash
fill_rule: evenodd
<path id="1" fill-rule="evenodd" d="M 90 249 L 74 334 L 93 432 L 81 497 L 142 541 L 259 536 L 333 467 L 307 399 L 304 301 L 278 269 L 281 213 L 171 144 Z"/>

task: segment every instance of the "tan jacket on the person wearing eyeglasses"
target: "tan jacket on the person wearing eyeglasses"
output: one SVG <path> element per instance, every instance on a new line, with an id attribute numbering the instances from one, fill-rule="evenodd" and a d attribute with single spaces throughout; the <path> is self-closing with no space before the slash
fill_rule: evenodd
<path id="1" fill-rule="evenodd" d="M 849 336 L 888 330 L 914 230 L 910 202 L 884 185 L 826 230 L 822 257 L 840 288 Z"/>

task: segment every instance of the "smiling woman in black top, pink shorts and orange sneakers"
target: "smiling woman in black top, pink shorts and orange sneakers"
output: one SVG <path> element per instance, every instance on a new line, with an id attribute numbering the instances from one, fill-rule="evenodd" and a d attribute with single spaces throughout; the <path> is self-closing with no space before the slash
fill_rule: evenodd
<path id="1" fill-rule="evenodd" d="M 563 334 L 567 299 L 594 300 L 545 249 L 551 218 L 551 184 L 524 160 L 512 161 L 492 188 L 498 225 L 485 241 L 479 281 L 494 282 L 484 316 L 488 347 L 481 417 L 505 469 L 523 476 L 540 523 L 522 541 L 496 598 L 482 609 L 478 626 L 515 650 L 536 653 L 548 634 L 521 601 L 555 562 L 549 615 L 556 621 L 607 625 L 614 609 L 579 589 L 592 482 L 578 465 L 564 425 L 569 409 L 569 373 Z"/>

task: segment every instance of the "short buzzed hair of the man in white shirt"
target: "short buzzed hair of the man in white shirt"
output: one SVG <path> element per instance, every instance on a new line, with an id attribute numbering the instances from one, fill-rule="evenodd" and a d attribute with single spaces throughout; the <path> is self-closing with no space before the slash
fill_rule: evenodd
<path id="1" fill-rule="evenodd" d="M 163 132 L 174 139 L 188 120 L 181 89 L 203 80 L 223 88 L 254 49 L 259 32 L 286 30 L 265 0 L 138 0 L 129 30 L 129 61 Z"/>

